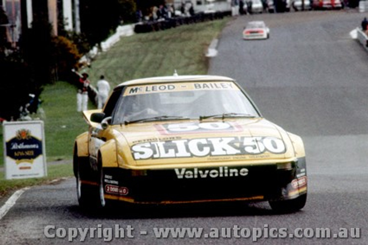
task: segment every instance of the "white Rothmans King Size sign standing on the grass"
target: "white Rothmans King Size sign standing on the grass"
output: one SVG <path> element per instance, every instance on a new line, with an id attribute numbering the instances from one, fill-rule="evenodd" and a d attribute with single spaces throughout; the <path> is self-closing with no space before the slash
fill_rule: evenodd
<path id="1" fill-rule="evenodd" d="M 43 121 L 4 122 L 6 179 L 47 175 Z"/>

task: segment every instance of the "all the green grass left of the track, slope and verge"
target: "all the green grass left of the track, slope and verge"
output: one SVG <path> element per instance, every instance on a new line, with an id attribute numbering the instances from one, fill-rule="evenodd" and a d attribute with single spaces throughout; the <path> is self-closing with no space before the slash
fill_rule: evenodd
<path id="1" fill-rule="evenodd" d="M 92 85 L 96 85 L 103 74 L 112 87 L 130 79 L 172 75 L 174 70 L 179 75 L 207 74 L 205 53 L 227 21 L 229 18 L 124 37 L 109 51 L 99 54 L 85 71 Z M 68 82 L 57 82 L 44 87 L 41 99 L 45 116 L 33 117 L 41 117 L 44 121 L 47 161 L 70 161 L 48 166 L 45 178 L 5 180 L 0 173 L 0 196 L 10 189 L 72 176 L 74 139 L 87 129 L 81 113 L 76 111 L 76 89 Z M 89 109 L 92 108 L 95 107 L 90 104 Z M 1 126 L 0 140 L 3 142 Z M 3 144 L 0 167 L 4 164 L 2 148 Z"/>

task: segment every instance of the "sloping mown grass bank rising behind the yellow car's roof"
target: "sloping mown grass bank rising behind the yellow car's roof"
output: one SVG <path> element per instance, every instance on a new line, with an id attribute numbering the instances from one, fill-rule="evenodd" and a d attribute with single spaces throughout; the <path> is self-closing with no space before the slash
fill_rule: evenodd
<path id="1" fill-rule="evenodd" d="M 124 37 L 108 52 L 101 53 L 85 71 L 92 84 L 105 75 L 112 85 L 136 78 L 172 75 L 174 70 L 179 75 L 207 74 L 208 46 L 229 19 Z"/>

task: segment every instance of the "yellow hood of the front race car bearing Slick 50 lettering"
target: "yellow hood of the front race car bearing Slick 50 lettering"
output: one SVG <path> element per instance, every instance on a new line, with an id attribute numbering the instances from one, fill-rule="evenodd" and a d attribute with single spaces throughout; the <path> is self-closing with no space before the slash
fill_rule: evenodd
<path id="1" fill-rule="evenodd" d="M 290 159 L 289 135 L 263 118 L 163 121 L 116 127 L 124 137 L 118 153 L 135 165 Z"/>

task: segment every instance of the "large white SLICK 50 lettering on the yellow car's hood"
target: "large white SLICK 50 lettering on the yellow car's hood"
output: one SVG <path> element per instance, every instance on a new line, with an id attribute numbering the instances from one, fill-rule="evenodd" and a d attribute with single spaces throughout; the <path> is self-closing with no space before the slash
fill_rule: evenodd
<path id="1" fill-rule="evenodd" d="M 286 146 L 282 139 L 276 137 L 219 137 L 194 138 L 170 141 L 137 143 L 131 147 L 135 160 L 260 155 L 266 152 L 283 154 Z"/>

